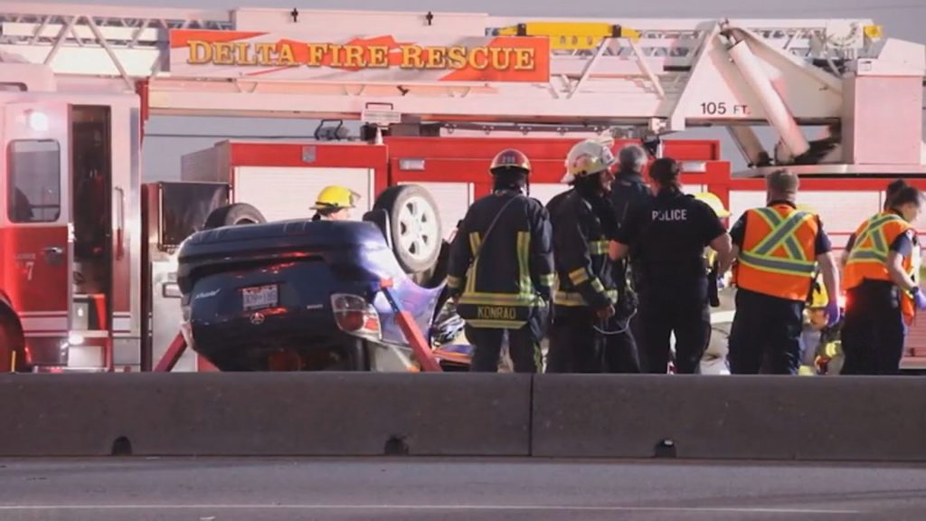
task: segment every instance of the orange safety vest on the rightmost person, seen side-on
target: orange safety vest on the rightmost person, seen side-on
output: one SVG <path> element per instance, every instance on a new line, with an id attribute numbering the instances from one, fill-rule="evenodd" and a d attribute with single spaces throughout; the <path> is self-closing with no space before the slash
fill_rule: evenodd
<path id="1" fill-rule="evenodd" d="M 887 273 L 888 252 L 896 238 L 907 233 L 907 230 L 911 228 L 910 223 L 904 221 L 904 218 L 894 211 L 883 211 L 862 222 L 856 230 L 856 242 L 852 251 L 849 252 L 848 260 L 845 261 L 843 273 L 845 289 L 861 286 L 865 279 L 890 282 L 891 275 Z M 904 257 L 904 271 L 913 280 L 919 278 L 919 273 L 916 273 L 915 269 L 918 259 L 919 255 Z M 902 292 L 900 311 L 904 313 L 907 322 L 913 318 L 913 299 L 907 295 L 906 291 Z"/>

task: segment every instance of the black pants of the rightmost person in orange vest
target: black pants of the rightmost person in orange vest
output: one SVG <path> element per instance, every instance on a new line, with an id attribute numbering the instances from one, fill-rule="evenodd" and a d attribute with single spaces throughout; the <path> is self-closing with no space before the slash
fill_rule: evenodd
<path id="1" fill-rule="evenodd" d="M 896 375 L 904 355 L 907 324 L 898 289 L 866 281 L 846 291 L 842 329 L 845 360 L 840 375 Z"/>

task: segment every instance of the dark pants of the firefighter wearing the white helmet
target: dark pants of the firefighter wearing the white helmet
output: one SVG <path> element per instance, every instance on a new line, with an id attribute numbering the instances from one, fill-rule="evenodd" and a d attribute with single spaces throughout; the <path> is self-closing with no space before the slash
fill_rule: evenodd
<path id="1" fill-rule="evenodd" d="M 626 321 L 612 317 L 602 322 L 590 308 L 557 306 L 546 372 L 639 373 L 636 344 Z M 595 327 L 620 333 L 602 334 Z"/>

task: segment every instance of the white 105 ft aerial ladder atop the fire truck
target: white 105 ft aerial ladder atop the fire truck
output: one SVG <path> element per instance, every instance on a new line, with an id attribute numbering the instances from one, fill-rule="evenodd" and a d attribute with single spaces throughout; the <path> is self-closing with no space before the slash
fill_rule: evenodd
<path id="1" fill-rule="evenodd" d="M 350 74 L 321 81 L 273 73 L 215 79 L 168 70 L 172 28 L 331 34 L 339 27 L 351 29 L 335 40 L 380 35 L 383 27 L 412 41 L 546 36 L 549 81 L 373 82 Z M 126 90 L 143 80 L 151 114 L 627 126 L 644 133 L 723 125 L 750 164 L 761 164 L 765 152 L 749 125 L 770 124 L 781 136 L 782 160 L 794 159 L 811 147 L 800 126 L 848 118 L 856 102 L 845 92 L 846 77 L 921 83 L 926 69 L 923 45 L 883 38 L 870 19 L 516 19 L 0 3 L 0 29 L 0 53 L 48 65 L 59 85 L 76 79 Z"/>

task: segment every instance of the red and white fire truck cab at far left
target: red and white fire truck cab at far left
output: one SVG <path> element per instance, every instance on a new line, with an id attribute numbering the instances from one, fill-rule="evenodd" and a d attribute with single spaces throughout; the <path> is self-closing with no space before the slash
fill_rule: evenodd
<path id="1" fill-rule="evenodd" d="M 0 370 L 111 367 L 141 337 L 138 96 L 0 68 Z"/>

